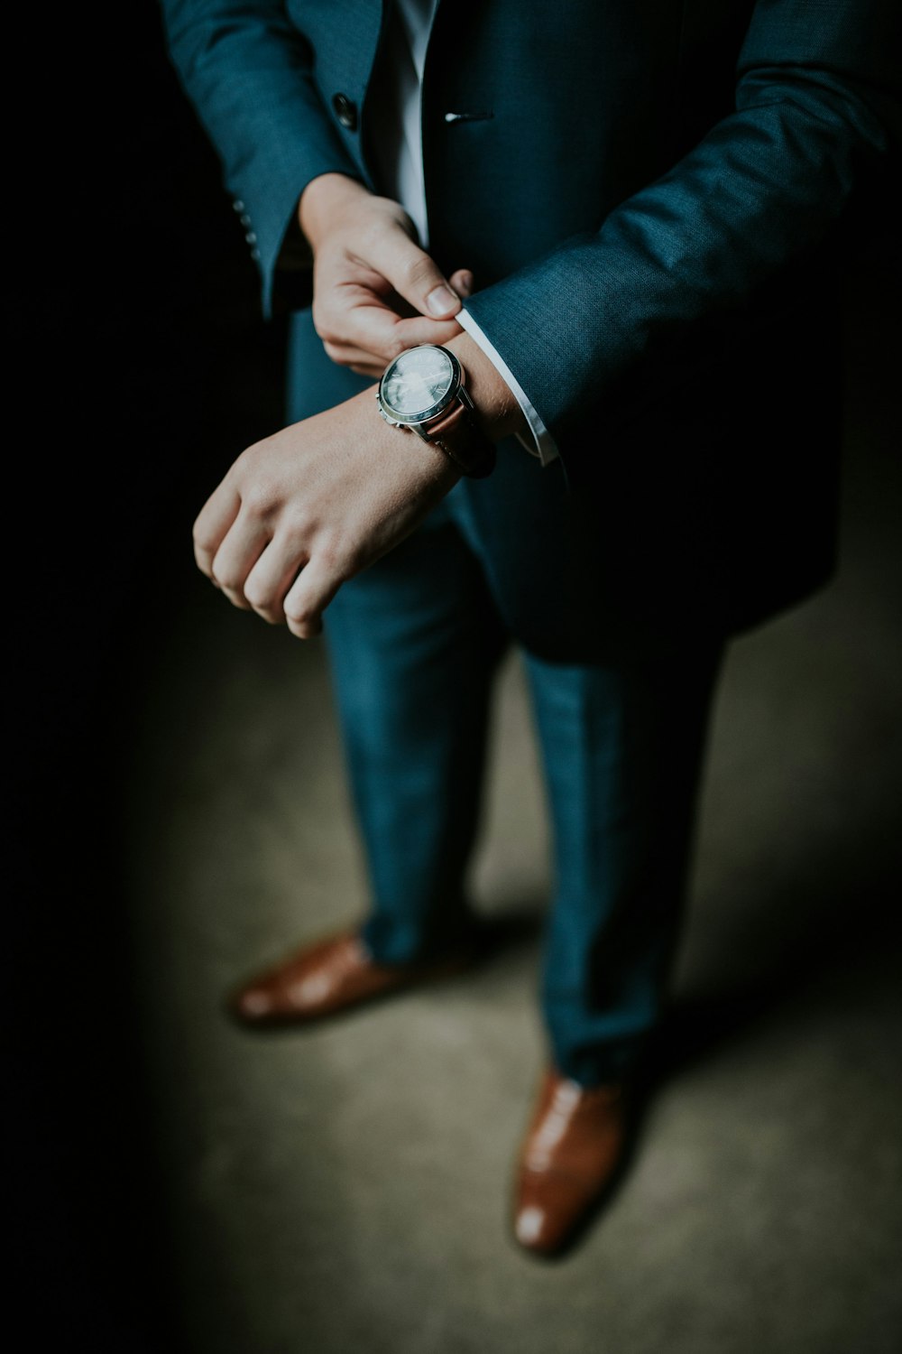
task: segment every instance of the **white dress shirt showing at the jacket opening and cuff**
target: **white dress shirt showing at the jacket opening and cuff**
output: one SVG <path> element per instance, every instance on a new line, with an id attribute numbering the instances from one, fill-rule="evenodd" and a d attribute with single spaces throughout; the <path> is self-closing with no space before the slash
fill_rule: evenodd
<path id="1" fill-rule="evenodd" d="M 377 156 L 387 195 L 400 202 L 417 226 L 423 249 L 429 249 L 422 92 L 426 49 L 438 0 L 394 0 L 394 4 L 398 22 L 391 26 L 385 50 L 387 87 L 394 102 L 387 97 L 377 110 L 381 123 L 376 138 Z M 448 116 L 450 119 L 453 114 Z M 481 348 L 523 410 L 533 437 L 519 440 L 544 466 L 549 464 L 557 458 L 557 447 L 513 371 L 465 307 L 454 318 Z"/>

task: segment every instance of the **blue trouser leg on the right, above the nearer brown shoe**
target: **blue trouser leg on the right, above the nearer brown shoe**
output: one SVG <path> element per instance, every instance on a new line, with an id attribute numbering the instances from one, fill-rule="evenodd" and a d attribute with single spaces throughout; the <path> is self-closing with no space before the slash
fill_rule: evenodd
<path id="1" fill-rule="evenodd" d="M 542 1009 L 554 1063 L 583 1085 L 627 1075 L 660 1013 L 721 651 L 526 661 L 554 834 Z"/>

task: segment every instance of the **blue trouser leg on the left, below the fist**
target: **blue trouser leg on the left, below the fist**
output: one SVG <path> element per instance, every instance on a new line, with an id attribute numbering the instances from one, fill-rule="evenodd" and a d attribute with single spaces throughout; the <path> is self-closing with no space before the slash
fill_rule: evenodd
<path id="1" fill-rule="evenodd" d="M 465 937 L 491 681 L 504 636 L 481 569 L 440 510 L 325 615 L 383 963 Z"/>

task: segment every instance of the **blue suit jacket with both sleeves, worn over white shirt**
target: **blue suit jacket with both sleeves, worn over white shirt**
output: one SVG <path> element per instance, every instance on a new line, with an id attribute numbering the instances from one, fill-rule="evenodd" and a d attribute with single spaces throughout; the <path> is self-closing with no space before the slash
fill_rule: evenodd
<path id="1" fill-rule="evenodd" d="M 356 393 L 310 321 L 298 198 L 368 142 L 380 0 L 162 0 L 292 318 L 289 417 Z M 430 252 L 557 440 L 467 482 L 511 630 L 549 655 L 733 634 L 830 577 L 837 282 L 897 164 L 897 0 L 440 0 Z M 341 97 L 339 97 L 341 96 Z M 446 121 L 446 112 L 475 114 Z"/>

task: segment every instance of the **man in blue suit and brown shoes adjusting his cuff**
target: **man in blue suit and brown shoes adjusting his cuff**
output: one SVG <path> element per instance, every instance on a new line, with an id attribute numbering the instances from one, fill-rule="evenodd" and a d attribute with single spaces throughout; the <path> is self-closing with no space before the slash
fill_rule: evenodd
<path id="1" fill-rule="evenodd" d="M 162 7 L 292 310 L 289 424 L 203 506 L 197 563 L 325 627 L 372 883 L 237 1010 L 304 1024 L 471 960 L 517 645 L 556 898 L 513 1212 L 556 1254 L 625 1158 L 723 645 L 834 563 L 836 283 L 898 152 L 895 7 Z"/>

